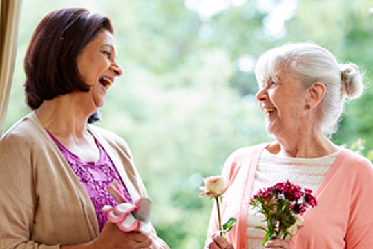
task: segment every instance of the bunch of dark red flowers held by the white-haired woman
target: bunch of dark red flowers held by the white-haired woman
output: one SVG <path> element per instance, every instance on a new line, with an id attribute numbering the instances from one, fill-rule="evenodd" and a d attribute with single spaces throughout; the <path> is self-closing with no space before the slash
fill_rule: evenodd
<path id="1" fill-rule="evenodd" d="M 249 202 L 257 213 L 265 216 L 265 244 L 269 239 L 291 239 L 302 225 L 302 216 L 310 207 L 317 205 L 312 190 L 302 189 L 289 181 L 276 183 L 272 187 L 260 189 Z"/>

